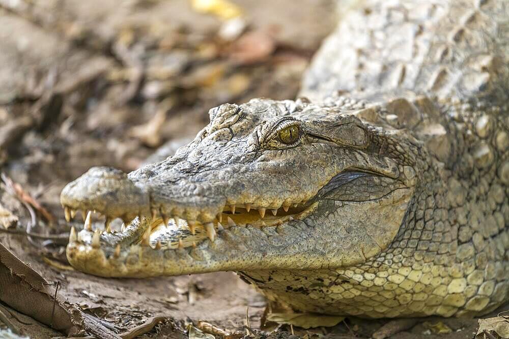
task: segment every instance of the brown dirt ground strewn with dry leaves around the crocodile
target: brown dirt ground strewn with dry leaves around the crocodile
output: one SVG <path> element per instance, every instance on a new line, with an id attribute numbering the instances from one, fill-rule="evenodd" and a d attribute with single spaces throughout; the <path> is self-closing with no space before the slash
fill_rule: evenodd
<path id="1" fill-rule="evenodd" d="M 164 315 L 142 337 L 205 337 L 188 333 L 188 323 L 242 337 L 247 320 L 249 337 L 370 337 L 387 321 L 312 330 L 268 324 L 261 332 L 266 302 L 232 272 L 118 280 L 68 266 L 68 232 L 82 226 L 81 218 L 65 222 L 59 195 L 67 182 L 97 165 L 136 169 L 163 143 L 194 136 L 221 103 L 294 98 L 335 22 L 332 0 L 237 0 L 209 13 L 191 3 L 199 2 L 0 0 L 0 212 L 18 219 L 0 222 L 0 242 L 118 331 Z M 6 178 L 36 204 L 15 198 Z M 31 337 L 62 336 L 10 312 Z M 471 338 L 477 320 L 407 327 L 393 337 Z"/>

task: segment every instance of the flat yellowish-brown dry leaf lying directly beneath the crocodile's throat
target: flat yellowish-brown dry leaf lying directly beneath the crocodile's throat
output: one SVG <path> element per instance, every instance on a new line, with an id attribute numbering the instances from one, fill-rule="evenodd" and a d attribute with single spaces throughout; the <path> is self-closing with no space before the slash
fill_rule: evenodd
<path id="1" fill-rule="evenodd" d="M 271 313 L 267 315 L 268 321 L 302 328 L 331 327 L 339 324 L 344 319 L 345 317 L 341 316 L 327 316 L 316 313 Z"/>

